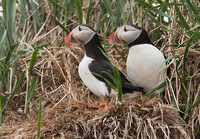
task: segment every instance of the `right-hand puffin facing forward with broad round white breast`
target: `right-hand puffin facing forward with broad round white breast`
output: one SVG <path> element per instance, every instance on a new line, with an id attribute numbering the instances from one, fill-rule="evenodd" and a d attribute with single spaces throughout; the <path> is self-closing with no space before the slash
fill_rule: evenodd
<path id="1" fill-rule="evenodd" d="M 153 45 L 145 29 L 133 24 L 123 25 L 111 34 L 108 43 L 129 47 L 126 67 L 128 78 L 134 86 L 149 92 L 165 82 L 165 56 Z M 163 98 L 164 90 L 165 87 L 156 90 L 151 97 Z"/>

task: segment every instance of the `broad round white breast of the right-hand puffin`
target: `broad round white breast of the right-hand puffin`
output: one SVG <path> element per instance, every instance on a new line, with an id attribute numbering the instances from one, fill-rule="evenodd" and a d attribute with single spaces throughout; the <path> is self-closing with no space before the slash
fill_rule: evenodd
<path id="1" fill-rule="evenodd" d="M 143 87 L 145 92 L 151 91 L 165 81 L 164 61 L 163 53 L 151 44 L 132 46 L 126 63 L 131 83 Z"/>

